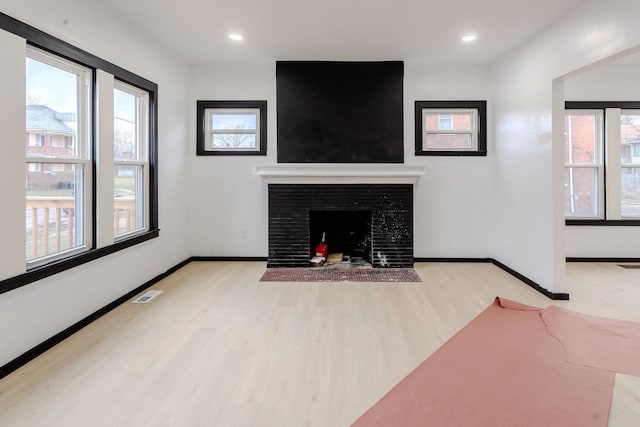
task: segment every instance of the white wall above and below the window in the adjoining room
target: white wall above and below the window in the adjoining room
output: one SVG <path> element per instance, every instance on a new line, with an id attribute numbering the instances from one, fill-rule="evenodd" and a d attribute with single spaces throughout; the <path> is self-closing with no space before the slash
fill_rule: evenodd
<path id="1" fill-rule="evenodd" d="M 564 80 L 567 101 L 640 101 L 640 63 L 600 64 Z M 568 257 L 639 258 L 639 227 L 566 227 Z"/>

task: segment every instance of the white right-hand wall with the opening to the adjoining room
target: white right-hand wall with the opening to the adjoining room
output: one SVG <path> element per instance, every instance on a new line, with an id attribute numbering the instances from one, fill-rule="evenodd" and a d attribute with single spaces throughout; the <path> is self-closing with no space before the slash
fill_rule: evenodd
<path id="1" fill-rule="evenodd" d="M 585 1 L 493 68 L 493 257 L 553 292 L 568 290 L 554 79 L 640 43 L 638 12 L 635 0 Z"/>

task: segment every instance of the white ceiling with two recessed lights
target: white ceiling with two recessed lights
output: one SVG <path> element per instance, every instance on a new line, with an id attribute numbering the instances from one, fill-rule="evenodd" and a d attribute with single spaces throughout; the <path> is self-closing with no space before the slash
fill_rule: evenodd
<path id="1" fill-rule="evenodd" d="M 582 0 L 103 0 L 193 64 L 410 60 L 488 64 Z M 228 34 L 244 35 L 233 42 Z M 463 44 L 461 37 L 478 39 Z"/>

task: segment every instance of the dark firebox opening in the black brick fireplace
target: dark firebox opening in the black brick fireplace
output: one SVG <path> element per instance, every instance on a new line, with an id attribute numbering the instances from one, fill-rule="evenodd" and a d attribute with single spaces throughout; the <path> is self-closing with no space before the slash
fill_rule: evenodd
<path id="1" fill-rule="evenodd" d="M 371 266 L 372 235 L 370 210 L 309 211 L 310 257 L 325 235 L 329 264 Z M 339 256 L 342 254 L 342 256 Z"/>

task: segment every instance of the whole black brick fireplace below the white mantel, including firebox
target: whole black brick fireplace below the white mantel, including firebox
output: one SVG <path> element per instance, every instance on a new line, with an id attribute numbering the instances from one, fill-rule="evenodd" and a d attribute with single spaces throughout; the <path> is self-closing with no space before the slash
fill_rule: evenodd
<path id="1" fill-rule="evenodd" d="M 323 231 L 330 253 L 413 266 L 412 184 L 269 184 L 268 200 L 268 267 L 308 267 Z"/>

